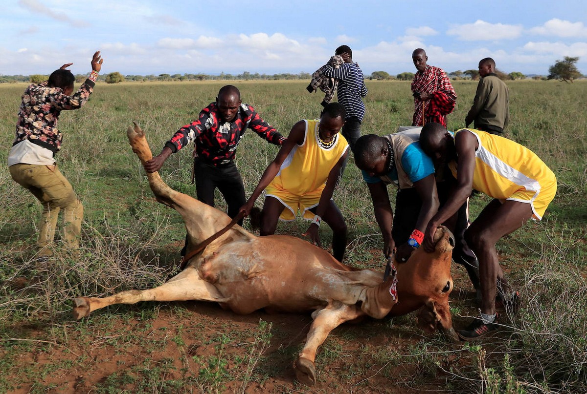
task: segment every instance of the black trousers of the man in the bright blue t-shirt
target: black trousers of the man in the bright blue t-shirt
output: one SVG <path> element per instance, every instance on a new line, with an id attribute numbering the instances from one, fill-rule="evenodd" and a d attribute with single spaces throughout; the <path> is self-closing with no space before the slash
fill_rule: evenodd
<path id="1" fill-rule="evenodd" d="M 447 201 L 450 191 L 448 184 L 447 182 L 439 182 L 436 186 L 440 206 L 443 206 Z M 392 237 L 396 242 L 396 245 L 405 243 L 410 239 L 411 232 L 414 227 L 416 227 L 421 206 L 422 201 L 420 200 L 420 196 L 416 192 L 416 189 L 410 188 L 397 191 L 396 209 L 394 209 L 393 212 L 392 227 Z M 454 229 L 451 229 L 456 242 L 453 249 L 453 260 L 455 263 L 461 264 L 465 267 L 471 278 L 471 283 L 473 283 L 475 288 L 478 288 L 479 261 L 477 260 L 475 253 L 473 253 L 468 247 L 464 237 L 465 230 L 469 224 L 467 208 L 467 203 L 464 203 L 461 208 L 458 209 L 457 222 L 455 223 Z"/>

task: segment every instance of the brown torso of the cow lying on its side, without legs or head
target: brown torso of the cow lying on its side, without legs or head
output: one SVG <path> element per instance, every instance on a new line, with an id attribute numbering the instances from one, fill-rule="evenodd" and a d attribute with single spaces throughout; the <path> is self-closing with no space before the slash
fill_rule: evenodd
<path id="1" fill-rule="evenodd" d="M 286 242 L 283 242 L 286 241 Z M 246 314 L 270 307 L 303 312 L 337 299 L 353 303 L 357 286 L 338 261 L 325 251 L 294 237 L 259 237 L 225 245 L 201 264 L 202 277 L 230 300 L 224 303 Z"/>

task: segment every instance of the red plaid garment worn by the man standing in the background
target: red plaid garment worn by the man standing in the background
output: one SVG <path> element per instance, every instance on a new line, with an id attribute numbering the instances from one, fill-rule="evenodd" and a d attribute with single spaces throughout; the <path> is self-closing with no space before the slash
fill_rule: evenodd
<path id="1" fill-rule="evenodd" d="M 446 116 L 454 110 L 457 93 L 443 69 L 426 66 L 424 72 L 417 72 L 411 82 L 411 91 L 430 93 L 430 100 L 421 101 L 414 97 L 412 125 L 421 126 L 423 104 L 426 106 L 426 123 L 436 122 L 446 127 Z"/>

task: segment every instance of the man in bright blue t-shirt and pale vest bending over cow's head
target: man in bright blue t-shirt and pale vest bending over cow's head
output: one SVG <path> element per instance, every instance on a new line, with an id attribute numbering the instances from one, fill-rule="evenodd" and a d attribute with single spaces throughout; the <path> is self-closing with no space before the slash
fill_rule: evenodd
<path id="1" fill-rule="evenodd" d="M 421 127 L 400 127 L 397 133 L 383 137 L 363 135 L 355 145 L 355 163 L 373 199 L 375 218 L 383 235 L 383 253 L 387 257 L 397 246 L 397 261 L 407 261 L 420 246 L 429 220 L 448 196 L 450 180 L 437 184 L 432 159 L 420 147 L 420 130 Z M 392 183 L 398 186 L 396 215 L 387 193 L 387 185 Z M 456 238 L 453 259 L 465 266 L 477 289 L 478 261 L 463 238 L 468 226 L 466 203 L 453 223 L 446 224 Z"/>

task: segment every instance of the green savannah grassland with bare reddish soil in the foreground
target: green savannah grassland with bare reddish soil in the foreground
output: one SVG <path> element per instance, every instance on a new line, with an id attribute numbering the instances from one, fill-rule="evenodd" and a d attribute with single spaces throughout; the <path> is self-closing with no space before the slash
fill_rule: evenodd
<path id="1" fill-rule="evenodd" d="M 242 98 L 282 133 L 318 117 L 320 94 L 307 82 L 237 83 Z M 413 316 L 345 324 L 316 359 L 318 382 L 295 381 L 292 362 L 309 315 L 238 316 L 200 302 L 140 303 L 99 310 L 73 321 L 73 297 L 149 288 L 177 272 L 180 216 L 154 201 L 126 128 L 137 121 L 154 154 L 181 125 L 197 118 L 222 82 L 98 84 L 81 110 L 63 111 L 58 164 L 85 206 L 79 258 L 35 259 L 41 207 L 0 167 L 0 392 L 587 392 L 587 83 L 512 81 L 508 136 L 555 172 L 558 193 L 539 223 L 498 243 L 501 263 L 522 294 L 517 315 L 498 335 L 447 344 L 416 328 Z M 449 128 L 464 127 L 476 82 L 456 81 Z M 409 83 L 367 81 L 363 134 L 392 133 L 411 123 Z M 0 162 L 14 139 L 25 84 L 0 86 Z M 277 150 L 248 132 L 238 149 L 247 193 Z M 194 195 L 191 147 L 161 175 Z M 394 189 L 389 188 L 393 199 Z M 383 269 L 379 228 L 359 171 L 349 162 L 335 201 L 349 226 L 346 263 Z M 471 217 L 489 199 L 471 199 Z M 262 201 L 258 202 L 260 206 Z M 217 206 L 224 209 L 222 199 Z M 248 222 L 245 222 L 248 227 Z M 306 222 L 281 223 L 299 235 Z M 321 230 L 329 246 L 328 226 Z M 477 314 L 464 269 L 453 265 L 456 328 Z"/>

